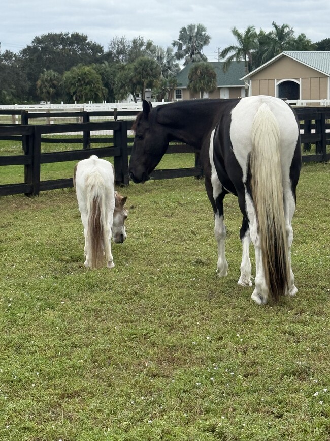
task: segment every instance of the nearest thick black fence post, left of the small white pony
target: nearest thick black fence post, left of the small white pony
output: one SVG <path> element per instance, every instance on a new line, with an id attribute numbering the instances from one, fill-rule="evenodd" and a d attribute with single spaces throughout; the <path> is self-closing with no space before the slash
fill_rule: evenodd
<path id="1" fill-rule="evenodd" d="M 31 193 L 26 196 L 38 196 L 40 192 L 40 155 L 41 155 L 41 130 L 34 126 L 32 135 L 27 135 L 25 155 L 31 155 L 31 164 L 24 166 L 24 183 L 32 186 Z"/>

